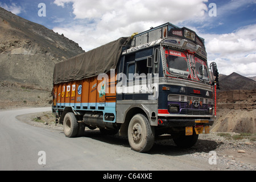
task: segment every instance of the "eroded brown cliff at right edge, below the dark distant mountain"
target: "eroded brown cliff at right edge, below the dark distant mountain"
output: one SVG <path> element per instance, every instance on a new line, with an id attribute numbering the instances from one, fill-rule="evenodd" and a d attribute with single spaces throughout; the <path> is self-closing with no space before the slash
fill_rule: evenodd
<path id="1" fill-rule="evenodd" d="M 217 117 L 212 131 L 256 133 L 256 89 L 217 94 Z"/>

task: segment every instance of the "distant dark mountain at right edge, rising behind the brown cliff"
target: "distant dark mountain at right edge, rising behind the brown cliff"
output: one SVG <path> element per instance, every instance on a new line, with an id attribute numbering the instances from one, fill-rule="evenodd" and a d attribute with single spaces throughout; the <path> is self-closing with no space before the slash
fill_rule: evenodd
<path id="1" fill-rule="evenodd" d="M 256 89 L 256 81 L 239 75 L 238 73 L 232 73 L 228 76 L 220 75 L 219 84 L 220 91 Z"/>

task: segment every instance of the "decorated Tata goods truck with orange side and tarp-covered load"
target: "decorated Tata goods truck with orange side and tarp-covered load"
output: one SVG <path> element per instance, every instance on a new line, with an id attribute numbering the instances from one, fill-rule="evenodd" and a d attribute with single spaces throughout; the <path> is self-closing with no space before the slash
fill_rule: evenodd
<path id="1" fill-rule="evenodd" d="M 167 135 L 192 147 L 216 117 L 216 63 L 204 39 L 165 23 L 55 65 L 52 112 L 66 137 L 98 128 L 137 152 Z"/>

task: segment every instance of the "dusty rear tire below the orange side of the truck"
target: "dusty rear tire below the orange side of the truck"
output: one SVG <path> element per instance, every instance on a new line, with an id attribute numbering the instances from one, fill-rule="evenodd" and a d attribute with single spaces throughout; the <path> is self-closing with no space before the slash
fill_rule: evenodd
<path id="1" fill-rule="evenodd" d="M 77 136 L 79 131 L 79 123 L 75 117 L 74 113 L 67 113 L 63 121 L 64 134 L 68 138 L 73 138 Z"/>

